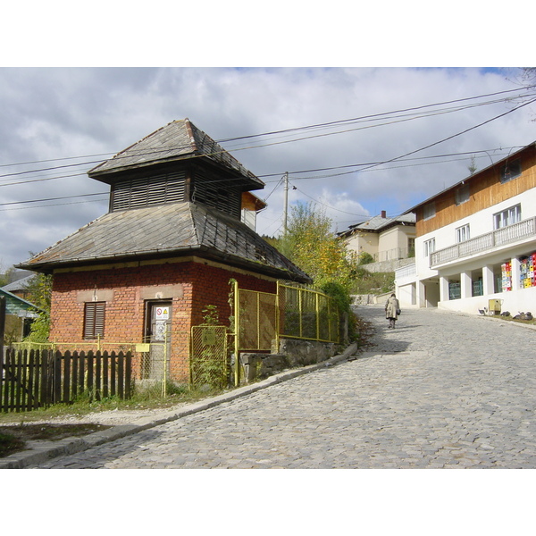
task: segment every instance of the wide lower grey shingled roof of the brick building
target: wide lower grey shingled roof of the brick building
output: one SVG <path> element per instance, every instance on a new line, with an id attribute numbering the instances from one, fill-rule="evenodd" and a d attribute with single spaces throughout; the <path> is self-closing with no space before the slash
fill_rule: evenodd
<path id="1" fill-rule="evenodd" d="M 280 279 L 311 281 L 246 224 L 193 203 L 105 214 L 19 267 L 52 272 L 62 266 L 176 255 L 198 255 Z"/>

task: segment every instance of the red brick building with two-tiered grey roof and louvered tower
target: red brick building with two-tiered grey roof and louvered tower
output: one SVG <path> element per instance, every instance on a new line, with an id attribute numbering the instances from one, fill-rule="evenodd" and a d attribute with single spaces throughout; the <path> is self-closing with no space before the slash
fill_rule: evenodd
<path id="1" fill-rule="evenodd" d="M 250 192 L 264 182 L 188 119 L 88 175 L 110 186 L 109 212 L 21 264 L 54 274 L 53 341 L 83 349 L 96 339 L 165 339 L 168 378 L 188 381 L 190 328 L 204 322 L 206 306 L 222 321 L 230 317 L 231 279 L 270 293 L 278 280 L 311 282 L 252 229 L 247 213 L 264 203 Z M 153 370 L 138 370 L 138 378 L 160 379 L 149 377 Z"/>

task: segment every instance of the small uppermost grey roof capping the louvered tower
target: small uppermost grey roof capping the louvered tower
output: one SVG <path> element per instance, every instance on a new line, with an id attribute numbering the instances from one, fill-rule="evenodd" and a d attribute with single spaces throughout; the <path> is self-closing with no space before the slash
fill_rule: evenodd
<path id="1" fill-rule="evenodd" d="M 106 176 L 110 173 L 192 157 L 205 157 L 231 172 L 239 173 L 240 176 L 247 179 L 248 189 L 264 188 L 262 180 L 255 177 L 234 156 L 217 144 L 213 138 L 207 136 L 205 132 L 197 129 L 188 119 L 172 121 L 155 130 L 110 160 L 94 167 L 88 172 L 88 175 L 92 179 L 106 182 Z"/>

